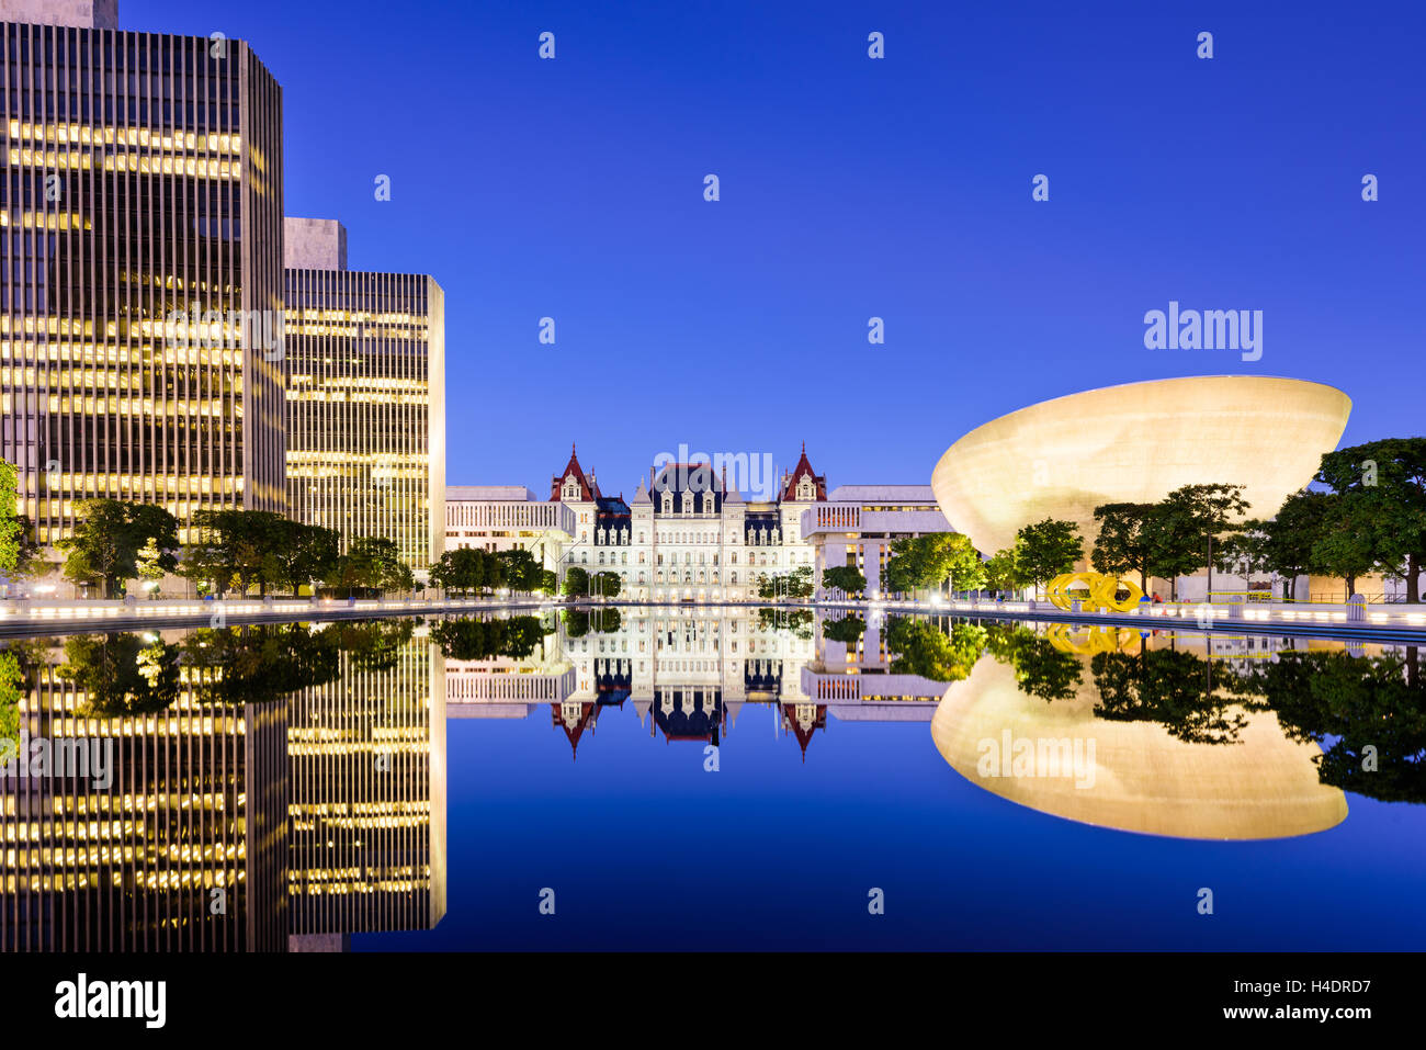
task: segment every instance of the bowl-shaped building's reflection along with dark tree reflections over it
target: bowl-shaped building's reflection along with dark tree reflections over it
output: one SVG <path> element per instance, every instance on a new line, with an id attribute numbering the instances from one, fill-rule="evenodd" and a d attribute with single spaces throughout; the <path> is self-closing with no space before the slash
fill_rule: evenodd
<path id="1" fill-rule="evenodd" d="M 1346 819 L 1345 795 L 1318 776 L 1318 745 L 1215 679 L 1215 655 L 1251 661 L 1271 658 L 1266 649 L 1236 639 L 1211 653 L 1201 636 L 1131 631 L 1058 636 L 1072 673 L 1050 699 L 1027 688 L 1024 665 L 983 659 L 938 705 L 931 736 L 971 783 L 1071 820 L 1186 839 L 1288 837 Z M 1172 659 L 1142 673 L 1155 655 Z M 1159 673 L 1169 663 L 1184 673 Z M 1011 768 L 1012 748 L 1024 768 Z M 1071 753 L 1082 768 L 1068 769 Z M 1047 755 L 1058 768 L 1045 768 Z"/>

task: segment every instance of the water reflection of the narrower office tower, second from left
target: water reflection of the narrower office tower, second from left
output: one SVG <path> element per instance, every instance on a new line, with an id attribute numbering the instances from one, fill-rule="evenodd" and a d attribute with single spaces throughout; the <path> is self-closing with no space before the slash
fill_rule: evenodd
<path id="1" fill-rule="evenodd" d="M 445 914 L 445 669 L 424 631 L 401 628 L 329 625 L 385 656 L 354 645 L 331 682 L 287 700 L 294 937 L 425 930 Z"/>

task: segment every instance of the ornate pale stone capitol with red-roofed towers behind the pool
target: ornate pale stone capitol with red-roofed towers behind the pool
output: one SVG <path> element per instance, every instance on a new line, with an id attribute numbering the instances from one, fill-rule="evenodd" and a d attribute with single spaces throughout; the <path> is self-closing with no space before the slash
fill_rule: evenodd
<path id="1" fill-rule="evenodd" d="M 563 582 L 570 568 L 619 576 L 619 596 L 645 602 L 739 602 L 759 598 L 763 576 L 857 565 L 868 592 L 896 539 L 950 532 L 928 485 L 844 485 L 803 447 L 774 479 L 770 499 L 750 499 L 707 461 L 649 468 L 632 498 L 605 495 L 570 447 L 548 499 L 522 485 L 451 486 L 445 544 L 530 551 Z"/>

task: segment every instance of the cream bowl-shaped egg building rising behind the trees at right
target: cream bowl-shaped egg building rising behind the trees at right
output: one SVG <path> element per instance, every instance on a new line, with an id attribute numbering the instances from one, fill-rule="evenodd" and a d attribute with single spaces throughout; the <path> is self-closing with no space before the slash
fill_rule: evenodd
<path id="1" fill-rule="evenodd" d="M 977 427 L 941 457 L 931 488 L 984 554 L 1045 518 L 1077 522 L 1088 552 L 1095 506 L 1155 502 L 1181 485 L 1245 485 L 1251 516 L 1272 516 L 1312 481 L 1350 411 L 1333 387 L 1275 377 L 1105 387 Z"/>

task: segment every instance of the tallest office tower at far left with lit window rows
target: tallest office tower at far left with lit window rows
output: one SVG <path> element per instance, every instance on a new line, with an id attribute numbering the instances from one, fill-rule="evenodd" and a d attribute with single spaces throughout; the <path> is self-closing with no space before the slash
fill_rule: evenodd
<path id="1" fill-rule="evenodd" d="M 0 457 L 37 539 L 94 496 L 282 511 L 281 87 L 113 0 L 0 16 Z"/>

